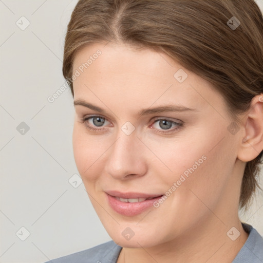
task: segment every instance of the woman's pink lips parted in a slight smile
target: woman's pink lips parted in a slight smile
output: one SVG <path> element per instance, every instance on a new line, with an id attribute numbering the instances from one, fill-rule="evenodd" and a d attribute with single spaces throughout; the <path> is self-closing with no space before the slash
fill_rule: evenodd
<path id="1" fill-rule="evenodd" d="M 160 194 L 144 193 L 120 193 L 118 191 L 106 192 L 109 206 L 117 213 L 125 216 L 138 215 L 149 208 L 160 199 Z"/>

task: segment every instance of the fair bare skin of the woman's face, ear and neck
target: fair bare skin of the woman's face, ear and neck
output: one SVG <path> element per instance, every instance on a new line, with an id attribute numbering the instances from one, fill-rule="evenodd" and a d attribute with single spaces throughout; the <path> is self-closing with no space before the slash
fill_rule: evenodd
<path id="1" fill-rule="evenodd" d="M 73 152 L 103 226 L 123 247 L 118 263 L 232 262 L 248 238 L 238 218 L 243 171 L 263 147 L 258 96 L 233 135 L 220 93 L 161 51 L 96 43 L 77 52 L 73 72 L 98 49 L 102 54 L 73 82 L 74 101 L 105 112 L 75 106 Z M 182 83 L 174 78 L 179 69 L 188 74 Z M 167 104 L 195 110 L 138 116 Z M 105 118 L 103 126 L 82 121 L 94 115 Z M 183 126 L 162 134 L 157 119 L 165 118 Z M 127 121 L 135 127 L 130 135 L 121 129 Z M 108 205 L 109 190 L 165 194 L 202 156 L 206 160 L 158 208 L 124 216 Z M 127 227 L 135 233 L 130 240 L 122 235 Z M 240 232 L 235 241 L 227 235 L 233 227 Z"/>

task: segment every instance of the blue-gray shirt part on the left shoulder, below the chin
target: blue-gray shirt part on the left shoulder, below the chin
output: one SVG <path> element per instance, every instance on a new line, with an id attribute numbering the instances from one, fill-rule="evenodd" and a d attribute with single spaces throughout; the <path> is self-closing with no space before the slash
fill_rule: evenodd
<path id="1" fill-rule="evenodd" d="M 113 240 L 99 246 L 49 260 L 45 263 L 116 263 L 122 247 L 118 246 Z"/>

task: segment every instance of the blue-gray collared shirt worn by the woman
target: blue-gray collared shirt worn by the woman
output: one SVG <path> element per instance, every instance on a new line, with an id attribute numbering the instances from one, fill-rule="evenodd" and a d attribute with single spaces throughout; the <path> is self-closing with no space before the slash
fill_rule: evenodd
<path id="1" fill-rule="evenodd" d="M 263 263 L 263 238 L 250 224 L 242 223 L 242 227 L 249 233 L 249 237 L 232 263 Z M 111 240 L 45 263 L 116 263 L 121 249 Z"/>

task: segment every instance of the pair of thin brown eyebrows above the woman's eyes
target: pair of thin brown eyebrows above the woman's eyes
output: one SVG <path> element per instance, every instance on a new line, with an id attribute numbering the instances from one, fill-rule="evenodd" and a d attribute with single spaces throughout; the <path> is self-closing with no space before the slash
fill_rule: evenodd
<path id="1" fill-rule="evenodd" d="M 102 114 L 106 113 L 104 109 L 102 109 L 98 106 L 95 106 L 91 103 L 88 103 L 86 101 L 83 101 L 81 99 L 74 101 L 74 106 L 76 106 L 76 105 L 81 105 L 81 106 L 87 107 L 89 109 L 96 110 L 98 112 L 101 112 Z M 193 108 L 187 108 L 187 107 L 184 107 L 181 105 L 168 104 L 166 106 L 142 109 L 139 111 L 138 115 L 141 117 L 143 115 L 150 115 L 150 114 L 156 114 L 156 113 L 168 112 L 168 111 L 182 112 L 182 111 L 199 111 L 199 110 L 193 109 Z"/>

